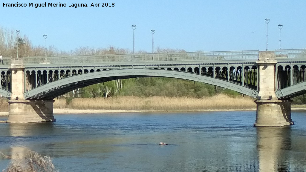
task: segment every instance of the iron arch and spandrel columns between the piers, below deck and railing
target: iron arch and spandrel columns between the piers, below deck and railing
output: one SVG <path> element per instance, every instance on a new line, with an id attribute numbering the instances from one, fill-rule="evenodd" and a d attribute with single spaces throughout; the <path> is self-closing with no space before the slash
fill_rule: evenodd
<path id="1" fill-rule="evenodd" d="M 217 70 L 211 71 L 210 69 L 205 70 L 206 67 L 201 68 L 201 72 L 199 67 L 188 67 L 187 72 L 184 67 L 181 67 L 180 69 L 175 68 L 160 68 L 164 71 L 172 71 L 170 74 L 162 75 L 163 70 L 158 69 L 143 69 L 143 68 L 128 68 L 128 69 L 60 69 L 60 70 L 49 70 L 49 71 L 38 71 L 36 74 L 36 71 L 26 71 L 26 93 L 25 97 L 27 99 L 52 99 L 54 97 L 57 97 L 59 95 L 62 95 L 66 92 L 76 90 L 77 88 L 82 88 L 91 84 L 106 82 L 110 80 L 116 80 L 116 79 L 127 79 L 127 78 L 135 78 L 135 77 L 173 77 L 173 78 L 181 78 L 181 79 L 187 79 L 187 80 L 195 80 L 200 81 L 208 84 L 217 85 L 224 88 L 229 88 L 228 84 L 233 83 L 236 87 L 243 87 L 245 89 L 251 89 L 252 91 L 249 91 L 251 93 L 247 93 L 245 91 L 241 91 L 241 88 L 238 90 L 235 90 L 235 87 L 232 86 L 233 90 L 241 92 L 246 95 L 250 95 L 253 97 L 256 97 L 257 91 L 253 88 L 257 88 L 256 85 L 252 85 L 253 83 L 257 84 L 256 80 L 252 81 L 250 79 L 250 76 L 253 76 L 253 73 L 257 73 L 257 68 L 253 67 L 252 70 L 248 70 L 249 67 L 245 66 L 244 73 L 242 70 L 236 70 L 236 67 L 232 66 L 232 71 L 228 72 L 226 70 L 220 71 L 218 70 L 220 67 L 216 67 Z M 142 69 L 142 70 L 141 70 Z M 173 69 L 173 70 L 172 70 Z M 227 69 L 224 68 L 223 69 Z M 240 69 L 240 68 L 238 68 Z M 242 68 L 241 68 L 242 69 Z M 118 71 L 118 72 L 117 72 Z M 134 72 L 131 72 L 134 71 Z M 142 74 L 140 71 L 143 71 L 145 73 Z M 175 72 L 174 72 L 175 71 Z M 130 74 L 124 74 L 125 72 L 130 72 Z M 174 73 L 173 73 L 174 72 Z M 90 73 L 94 73 L 93 78 L 88 78 Z M 118 74 L 116 76 L 115 74 Z M 123 74 L 122 74 L 123 73 Z M 233 76 L 232 79 L 229 78 L 230 73 Z M 114 76 L 108 77 L 108 74 L 113 74 Z M 190 75 L 192 74 L 192 75 Z M 186 76 L 189 77 L 186 77 Z M 199 79 L 197 77 L 205 76 L 205 79 Z M 215 77 L 213 77 L 215 76 Z M 240 77 L 237 77 L 240 76 Z M 76 82 L 75 79 L 78 79 Z M 80 79 L 81 78 L 81 79 Z M 246 78 L 246 79 L 242 79 Z M 257 77 L 255 77 L 257 79 Z M 68 81 L 67 81 L 68 80 Z M 222 84 L 220 84 L 220 80 L 222 80 Z M 251 82 L 249 82 L 251 80 Z M 242 82 L 244 83 L 244 86 L 242 85 Z M 56 83 L 53 85 L 52 83 Z M 40 90 L 42 86 L 46 85 L 44 87 L 45 90 Z M 238 85 L 238 86 L 237 86 Z M 48 87 L 47 87 L 48 86 Z M 50 87 L 50 89 L 49 89 Z M 229 88 L 230 89 L 230 88 Z M 31 90 L 35 91 L 35 96 L 30 95 L 29 93 L 33 94 Z M 39 90 L 39 91 L 38 91 Z"/>

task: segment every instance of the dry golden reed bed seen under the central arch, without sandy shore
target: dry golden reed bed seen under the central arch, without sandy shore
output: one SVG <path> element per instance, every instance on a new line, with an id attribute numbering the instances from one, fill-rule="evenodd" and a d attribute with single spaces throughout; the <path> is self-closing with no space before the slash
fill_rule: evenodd
<path id="1" fill-rule="evenodd" d="M 199 110 L 227 110 L 254 109 L 256 103 L 251 97 L 230 97 L 215 95 L 206 98 L 188 97 L 134 97 L 122 96 L 111 98 L 77 98 L 69 105 L 65 99 L 55 100 L 54 108 L 70 109 L 104 109 L 104 110 L 162 110 L 162 111 L 199 111 Z"/>

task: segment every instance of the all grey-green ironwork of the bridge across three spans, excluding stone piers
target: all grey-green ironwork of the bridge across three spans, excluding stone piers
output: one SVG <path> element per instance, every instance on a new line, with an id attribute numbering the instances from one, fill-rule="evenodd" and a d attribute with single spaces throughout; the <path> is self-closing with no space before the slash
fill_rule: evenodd
<path id="1" fill-rule="evenodd" d="M 258 58 L 258 50 L 25 57 L 24 92 L 27 99 L 51 99 L 73 89 L 108 80 L 175 76 L 256 97 L 259 91 Z M 275 58 L 278 99 L 306 93 L 306 50 L 275 50 Z M 4 65 L 0 66 L 0 94 L 10 97 L 11 84 L 14 84 L 11 82 L 12 71 L 9 70 L 10 58 L 4 58 L 3 62 Z"/>

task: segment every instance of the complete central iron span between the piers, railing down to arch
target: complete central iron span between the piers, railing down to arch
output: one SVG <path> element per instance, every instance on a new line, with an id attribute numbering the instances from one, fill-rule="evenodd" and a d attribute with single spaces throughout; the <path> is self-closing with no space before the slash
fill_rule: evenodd
<path id="1" fill-rule="evenodd" d="M 25 98 L 51 99 L 91 84 L 132 77 L 196 80 L 256 97 L 257 58 L 257 50 L 26 58 Z"/>

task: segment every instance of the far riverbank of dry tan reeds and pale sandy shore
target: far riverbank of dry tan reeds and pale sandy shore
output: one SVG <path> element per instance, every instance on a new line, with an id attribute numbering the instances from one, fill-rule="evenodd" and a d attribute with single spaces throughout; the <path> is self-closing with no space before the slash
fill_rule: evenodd
<path id="1" fill-rule="evenodd" d="M 3 100 L 3 99 L 2 99 Z M 8 103 L 0 101 L 0 116 L 8 115 Z M 292 110 L 306 110 L 306 105 L 292 105 Z M 256 110 L 248 96 L 215 95 L 204 98 L 135 97 L 55 99 L 54 114 L 103 114 L 129 112 L 196 112 Z"/>

